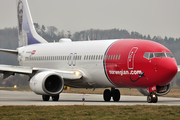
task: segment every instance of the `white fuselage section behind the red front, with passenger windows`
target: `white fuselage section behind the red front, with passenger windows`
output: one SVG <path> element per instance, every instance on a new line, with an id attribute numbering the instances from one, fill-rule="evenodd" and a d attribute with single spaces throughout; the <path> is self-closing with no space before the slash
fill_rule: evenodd
<path id="1" fill-rule="evenodd" d="M 72 87 L 115 87 L 104 72 L 104 55 L 117 40 L 59 42 L 18 48 L 21 66 L 83 72 L 80 81 L 66 82 Z"/>

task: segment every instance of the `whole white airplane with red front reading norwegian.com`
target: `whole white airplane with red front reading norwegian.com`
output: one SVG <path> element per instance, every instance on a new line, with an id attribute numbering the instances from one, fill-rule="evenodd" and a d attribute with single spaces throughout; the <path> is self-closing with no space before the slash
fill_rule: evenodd
<path id="1" fill-rule="evenodd" d="M 141 39 L 48 43 L 36 33 L 27 0 L 17 1 L 19 47 L 0 49 L 15 54 L 20 66 L 0 65 L 3 78 L 16 73 L 29 76 L 31 90 L 44 101 L 58 101 L 64 86 L 105 88 L 104 101 L 119 101 L 117 88 L 137 88 L 156 103 L 167 94 L 177 63 L 165 46 Z M 110 88 L 110 89 L 107 89 Z"/>

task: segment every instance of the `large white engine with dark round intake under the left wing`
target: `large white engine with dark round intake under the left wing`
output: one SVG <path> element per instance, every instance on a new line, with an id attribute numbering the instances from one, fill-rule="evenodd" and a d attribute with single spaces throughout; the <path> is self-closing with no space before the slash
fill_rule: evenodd
<path id="1" fill-rule="evenodd" d="M 39 95 L 58 95 L 63 91 L 63 78 L 51 71 L 44 71 L 34 75 L 29 86 L 33 92 Z"/>

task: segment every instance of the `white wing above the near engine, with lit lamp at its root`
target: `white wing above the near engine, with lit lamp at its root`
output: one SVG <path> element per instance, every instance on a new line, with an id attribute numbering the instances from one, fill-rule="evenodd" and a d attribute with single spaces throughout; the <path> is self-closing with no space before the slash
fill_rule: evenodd
<path id="1" fill-rule="evenodd" d="M 46 68 L 31 68 L 24 66 L 12 66 L 12 65 L 0 65 L 0 73 L 3 74 L 3 79 L 14 75 L 15 73 L 29 75 L 30 78 L 38 72 L 42 71 L 53 71 L 58 73 L 63 79 L 66 80 L 77 80 L 83 77 L 80 71 L 65 71 L 57 69 L 46 69 Z"/>

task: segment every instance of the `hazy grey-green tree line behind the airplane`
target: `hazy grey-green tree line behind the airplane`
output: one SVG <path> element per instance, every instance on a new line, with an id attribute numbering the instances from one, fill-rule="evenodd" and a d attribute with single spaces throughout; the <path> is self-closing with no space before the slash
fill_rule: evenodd
<path id="1" fill-rule="evenodd" d="M 106 40 L 106 39 L 145 39 L 158 42 L 166 46 L 174 54 L 177 63 L 180 64 L 180 38 L 173 38 L 165 36 L 150 36 L 142 35 L 136 31 L 129 32 L 125 29 L 89 29 L 71 33 L 71 31 L 59 31 L 55 26 L 45 26 L 34 23 L 37 33 L 48 42 L 58 42 L 61 38 L 70 38 L 72 41 L 84 40 Z M 16 49 L 18 48 L 18 31 L 16 27 L 0 29 L 0 48 Z M 0 64 L 18 65 L 15 55 L 0 52 Z M 12 80 L 13 79 L 13 80 Z M 24 80 L 26 79 L 26 80 Z M 17 75 L 10 77 L 5 81 L 0 80 L 0 86 L 12 86 L 12 84 L 19 84 L 20 86 L 28 85 L 27 77 Z M 12 82 L 13 81 L 13 82 Z M 180 86 L 180 79 L 178 77 L 173 81 L 174 85 Z"/>

